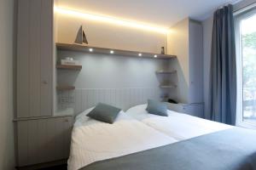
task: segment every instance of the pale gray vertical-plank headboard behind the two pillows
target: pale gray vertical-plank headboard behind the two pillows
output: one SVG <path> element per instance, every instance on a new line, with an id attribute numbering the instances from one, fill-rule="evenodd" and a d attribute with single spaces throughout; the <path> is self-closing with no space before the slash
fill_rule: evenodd
<path id="1" fill-rule="evenodd" d="M 73 94 L 61 94 L 59 98 L 73 99 L 74 115 L 102 102 L 121 108 L 123 111 L 134 105 L 147 103 L 148 99 L 160 99 L 160 88 L 77 88 Z M 64 102 L 65 103 L 65 102 Z M 66 106 L 67 107 L 67 106 Z"/>

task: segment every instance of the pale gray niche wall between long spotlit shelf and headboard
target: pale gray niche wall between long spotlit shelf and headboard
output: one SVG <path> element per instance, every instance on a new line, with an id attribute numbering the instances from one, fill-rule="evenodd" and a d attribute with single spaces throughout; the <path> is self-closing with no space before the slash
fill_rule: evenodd
<path id="1" fill-rule="evenodd" d="M 58 70 L 58 85 L 74 85 L 76 88 L 159 88 L 160 83 L 177 82 L 177 74 L 155 74 L 155 71 L 168 69 L 170 62 L 176 59 L 143 59 L 68 51 L 58 51 L 57 57 L 58 60 L 73 57 L 83 65 L 81 71 Z M 170 97 L 177 99 L 177 89 L 172 88 L 169 91 Z M 61 96 L 69 96 L 73 102 L 72 91 L 67 95 L 65 92 L 58 93 L 57 96 L 59 104 L 63 100 Z"/>

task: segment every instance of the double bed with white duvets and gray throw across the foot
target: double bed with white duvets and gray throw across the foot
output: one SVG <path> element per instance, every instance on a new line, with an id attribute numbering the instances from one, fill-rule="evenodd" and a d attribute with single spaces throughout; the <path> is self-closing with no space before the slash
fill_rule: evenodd
<path id="1" fill-rule="evenodd" d="M 87 117 L 91 109 L 79 114 L 68 169 L 256 169 L 255 131 L 172 111 L 149 115 L 145 106 L 121 111 L 113 124 Z"/>

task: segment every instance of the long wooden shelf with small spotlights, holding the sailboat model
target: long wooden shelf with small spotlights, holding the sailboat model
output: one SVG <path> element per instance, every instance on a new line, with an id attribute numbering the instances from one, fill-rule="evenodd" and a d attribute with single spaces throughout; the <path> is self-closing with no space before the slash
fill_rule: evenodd
<path id="1" fill-rule="evenodd" d="M 56 48 L 58 50 L 69 50 L 69 51 L 78 51 L 85 53 L 95 53 L 95 54 L 110 54 L 110 51 L 113 50 L 112 55 L 123 55 L 123 56 L 132 56 L 137 58 L 152 58 L 152 59 L 177 59 L 176 55 L 167 55 L 167 54 L 152 54 L 144 53 L 140 51 L 127 51 L 122 49 L 113 49 L 113 48 L 100 48 L 100 47 L 91 47 L 80 44 L 70 44 L 70 43 L 56 43 Z M 92 48 L 92 52 L 90 52 Z M 138 54 L 142 54 L 139 56 Z M 154 58 L 154 55 L 157 55 L 157 58 Z"/>

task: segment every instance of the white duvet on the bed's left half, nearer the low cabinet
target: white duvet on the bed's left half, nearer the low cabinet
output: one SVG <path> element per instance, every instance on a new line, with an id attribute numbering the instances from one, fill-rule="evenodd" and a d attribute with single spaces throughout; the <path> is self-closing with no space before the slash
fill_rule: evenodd
<path id="1" fill-rule="evenodd" d="M 77 170 L 101 161 L 177 142 L 142 122 L 119 113 L 113 124 L 98 122 L 84 111 L 76 117 L 72 132 L 68 170 Z"/>

